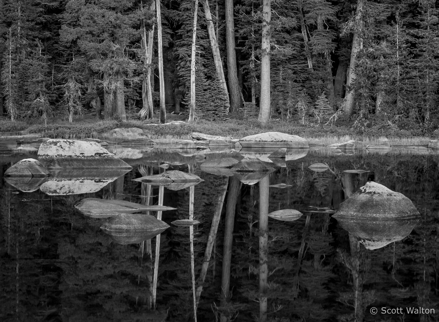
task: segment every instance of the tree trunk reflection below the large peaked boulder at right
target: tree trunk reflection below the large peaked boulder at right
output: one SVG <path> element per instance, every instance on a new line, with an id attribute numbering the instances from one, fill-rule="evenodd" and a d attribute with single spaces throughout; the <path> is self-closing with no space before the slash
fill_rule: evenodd
<path id="1" fill-rule="evenodd" d="M 363 307 L 363 281 L 360 276 L 360 241 L 355 236 L 349 234 L 349 245 L 351 249 L 351 272 L 354 289 L 354 308 L 355 321 L 362 322 L 364 320 Z"/>

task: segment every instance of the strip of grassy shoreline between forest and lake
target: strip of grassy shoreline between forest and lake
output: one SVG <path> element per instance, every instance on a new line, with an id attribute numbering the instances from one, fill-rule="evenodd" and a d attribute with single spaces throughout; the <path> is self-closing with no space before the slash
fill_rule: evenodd
<path id="1" fill-rule="evenodd" d="M 172 114 L 171 114 L 172 115 Z M 181 120 L 181 117 L 171 116 L 168 122 Z M 144 129 L 153 140 L 191 140 L 191 132 L 201 132 L 209 135 L 225 136 L 241 139 L 244 136 L 263 132 L 283 132 L 301 136 L 312 145 L 329 145 L 347 140 L 358 140 L 366 144 L 379 144 L 389 141 L 393 146 L 426 146 L 430 140 L 437 140 L 439 133 L 432 132 L 425 136 L 412 135 L 407 130 L 397 130 L 389 127 L 381 131 L 363 131 L 346 125 L 338 126 L 304 126 L 295 122 L 273 120 L 266 125 L 261 125 L 256 119 L 238 120 L 232 119 L 225 122 L 198 121 L 194 124 L 184 125 L 160 125 L 153 120 L 129 120 L 119 122 L 116 120 L 96 121 L 89 115 L 68 123 L 63 119 L 54 119 L 47 126 L 39 123 L 16 121 L 11 122 L 6 118 L 0 118 L 0 136 L 41 134 L 49 138 L 65 139 L 100 139 L 102 133 L 116 128 L 140 128 Z"/>

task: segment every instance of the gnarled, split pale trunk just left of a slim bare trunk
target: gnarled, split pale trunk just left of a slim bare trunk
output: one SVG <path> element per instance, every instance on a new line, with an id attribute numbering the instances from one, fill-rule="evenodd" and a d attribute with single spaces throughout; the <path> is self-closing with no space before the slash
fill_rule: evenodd
<path id="1" fill-rule="evenodd" d="M 143 5 L 141 6 L 143 7 Z M 155 1 L 152 1 L 148 10 L 150 12 L 155 11 Z M 142 48 L 144 50 L 143 64 L 144 68 L 146 68 L 146 73 L 144 72 L 142 80 L 142 108 L 139 111 L 139 116 L 141 119 L 152 118 L 154 113 L 151 88 L 151 62 L 154 42 L 154 28 L 155 24 L 152 25 L 151 30 L 148 30 L 147 33 L 145 22 L 142 21 Z"/>

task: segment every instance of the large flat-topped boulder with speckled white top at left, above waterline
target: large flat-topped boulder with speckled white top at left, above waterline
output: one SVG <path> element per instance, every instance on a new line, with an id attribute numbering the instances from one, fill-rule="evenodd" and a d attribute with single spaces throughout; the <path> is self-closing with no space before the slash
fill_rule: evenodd
<path id="1" fill-rule="evenodd" d="M 99 143 L 50 139 L 40 145 L 38 160 L 52 168 L 131 168 Z"/>

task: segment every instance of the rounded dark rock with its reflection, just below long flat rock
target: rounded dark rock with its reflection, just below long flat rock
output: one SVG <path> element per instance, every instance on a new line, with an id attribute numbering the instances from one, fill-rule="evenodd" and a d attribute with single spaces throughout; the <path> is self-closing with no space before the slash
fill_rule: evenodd
<path id="1" fill-rule="evenodd" d="M 140 243 L 164 232 L 169 225 L 151 215 L 125 214 L 109 218 L 101 229 L 110 235 L 115 243 Z"/>

